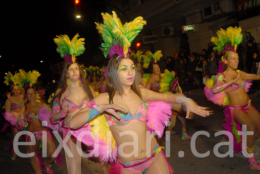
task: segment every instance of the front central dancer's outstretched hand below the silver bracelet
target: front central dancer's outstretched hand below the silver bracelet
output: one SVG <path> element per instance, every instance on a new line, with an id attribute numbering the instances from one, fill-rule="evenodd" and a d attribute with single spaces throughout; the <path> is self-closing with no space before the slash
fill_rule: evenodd
<path id="1" fill-rule="evenodd" d="M 209 108 L 207 108 L 207 107 L 199 106 L 193 100 L 187 100 L 186 101 L 186 119 L 193 119 L 193 115 L 190 117 L 190 112 L 193 112 L 194 114 L 198 114 L 203 117 L 214 114 L 213 111 L 208 110 L 208 109 Z"/>

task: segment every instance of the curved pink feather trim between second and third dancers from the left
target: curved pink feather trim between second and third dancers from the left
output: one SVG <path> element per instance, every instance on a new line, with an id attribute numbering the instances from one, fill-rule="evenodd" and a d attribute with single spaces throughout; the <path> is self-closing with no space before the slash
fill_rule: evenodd
<path id="1" fill-rule="evenodd" d="M 51 110 L 49 107 L 44 106 L 42 108 L 40 108 L 39 112 L 38 112 L 38 116 L 40 121 L 46 121 L 47 125 L 46 127 L 49 127 L 50 129 L 54 130 L 54 131 L 59 131 L 59 132 L 63 132 L 63 128 L 61 127 L 62 121 L 60 121 L 57 124 L 51 124 L 49 116 L 51 115 Z"/>

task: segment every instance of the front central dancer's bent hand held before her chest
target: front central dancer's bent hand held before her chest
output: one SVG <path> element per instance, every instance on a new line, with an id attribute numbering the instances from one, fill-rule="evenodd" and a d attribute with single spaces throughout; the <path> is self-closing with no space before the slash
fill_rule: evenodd
<path id="1" fill-rule="evenodd" d="M 120 116 L 116 113 L 118 112 L 124 112 L 127 113 L 127 109 L 120 107 L 116 104 L 101 104 L 99 105 L 99 112 L 108 112 L 109 114 L 112 114 L 114 117 L 116 117 L 118 120 L 120 120 Z"/>

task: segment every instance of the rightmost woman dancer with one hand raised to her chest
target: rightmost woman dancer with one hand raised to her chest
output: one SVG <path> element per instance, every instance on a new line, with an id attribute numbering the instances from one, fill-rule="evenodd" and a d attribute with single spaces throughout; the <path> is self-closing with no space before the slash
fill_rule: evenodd
<path id="1" fill-rule="evenodd" d="M 233 133 L 235 153 L 239 151 L 246 153 L 247 151 L 250 154 L 248 166 L 252 170 L 260 170 L 260 165 L 254 156 L 255 139 L 260 135 L 260 115 L 250 103 L 251 100 L 246 93 L 248 91 L 246 80 L 259 80 L 260 73 L 248 74 L 236 71 L 239 62 L 236 47 L 243 39 L 240 27 L 221 29 L 217 34 L 218 38 L 213 37 L 211 41 L 217 45 L 214 49 L 222 51 L 222 62 L 220 62 L 219 74 L 207 82 L 205 94 L 214 103 L 226 105 L 224 128 Z M 224 69 L 222 64 L 224 64 Z M 215 85 L 212 83 L 213 80 L 216 80 Z M 219 97 L 216 98 L 213 94 L 218 94 Z M 238 131 L 242 131 L 241 125 L 246 125 L 247 131 L 254 132 L 253 135 L 246 136 L 246 144 L 242 140 L 242 136 L 237 134 Z"/>

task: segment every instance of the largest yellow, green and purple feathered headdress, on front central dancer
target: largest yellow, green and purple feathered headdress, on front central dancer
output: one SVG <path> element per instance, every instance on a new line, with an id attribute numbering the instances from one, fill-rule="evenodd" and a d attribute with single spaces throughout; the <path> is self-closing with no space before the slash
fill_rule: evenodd
<path id="1" fill-rule="evenodd" d="M 142 16 L 139 16 L 133 21 L 122 25 L 116 12 L 112 11 L 112 13 L 112 15 L 101 13 L 103 24 L 95 22 L 96 29 L 102 35 L 104 41 L 100 49 L 104 52 L 105 58 L 108 55 L 111 57 L 115 53 L 119 56 L 127 57 L 131 42 L 143 29 L 143 25 L 146 25 L 146 21 L 143 20 Z"/>

